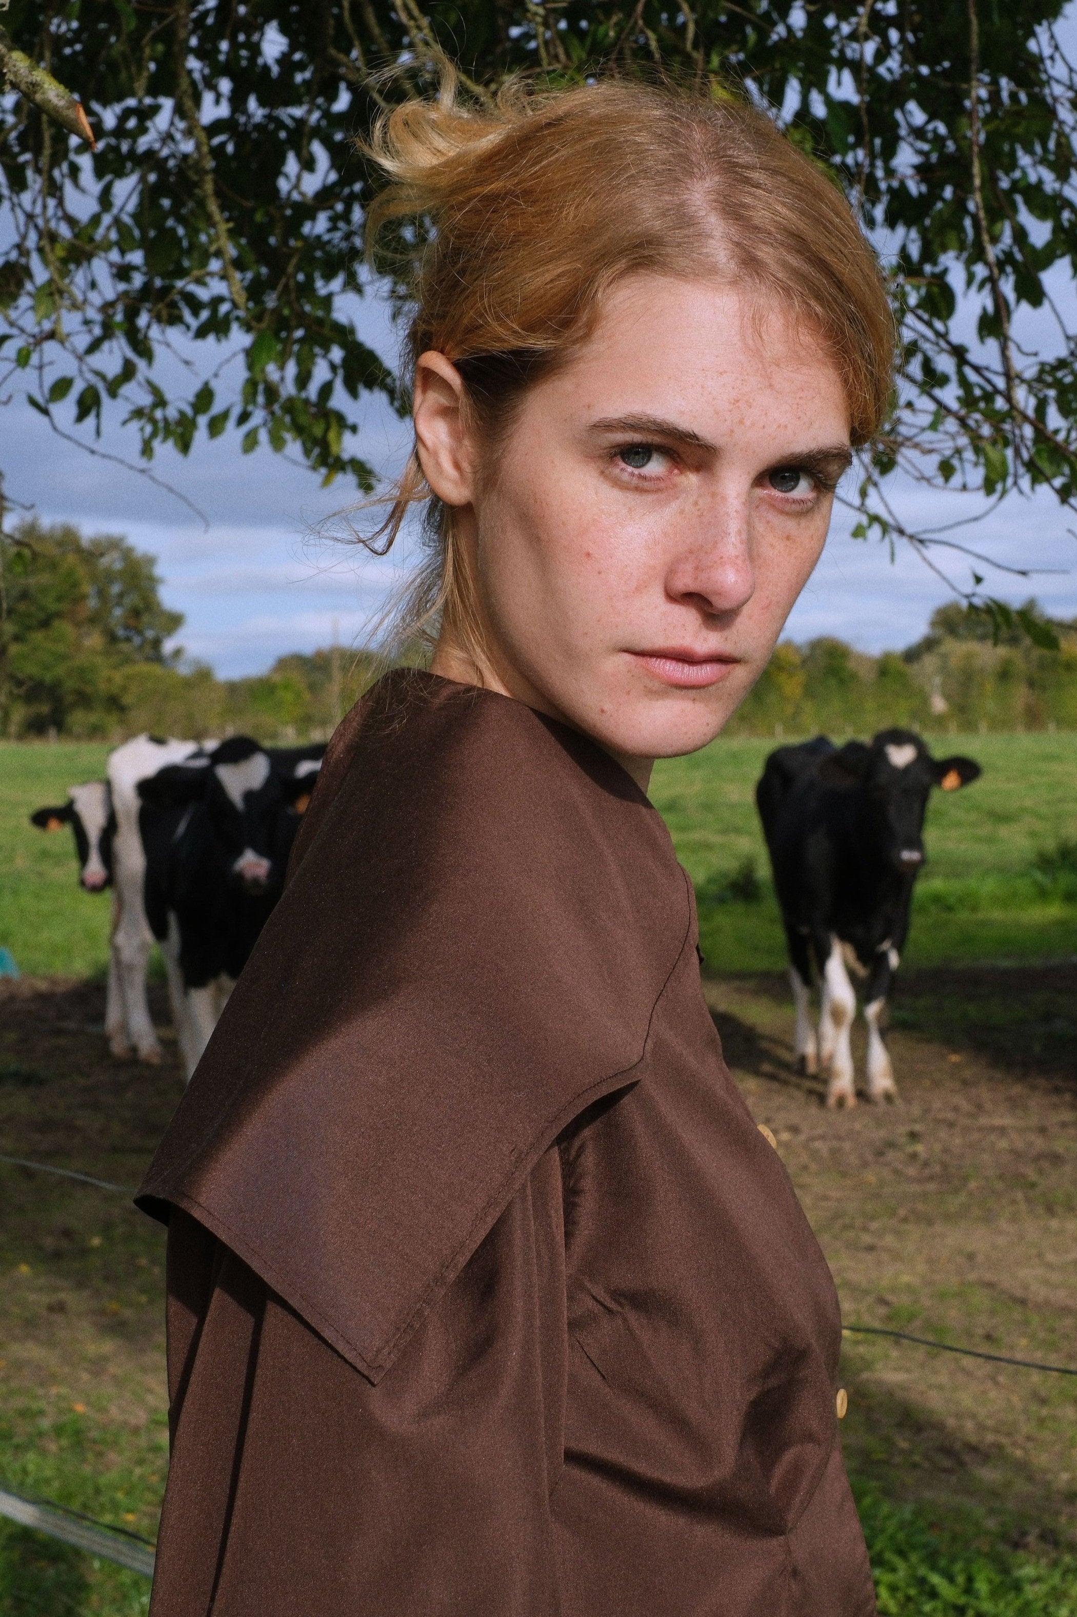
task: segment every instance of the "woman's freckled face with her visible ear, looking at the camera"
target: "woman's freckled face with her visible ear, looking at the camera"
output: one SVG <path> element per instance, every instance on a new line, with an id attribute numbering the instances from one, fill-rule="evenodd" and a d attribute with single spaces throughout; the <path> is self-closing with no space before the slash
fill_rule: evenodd
<path id="1" fill-rule="evenodd" d="M 718 734 L 818 559 L 851 459 L 838 370 L 779 306 L 639 277 L 524 395 L 485 475 L 459 403 L 424 354 L 419 456 L 471 553 L 479 676 L 645 783 Z M 475 679 L 448 631 L 433 669 Z"/>

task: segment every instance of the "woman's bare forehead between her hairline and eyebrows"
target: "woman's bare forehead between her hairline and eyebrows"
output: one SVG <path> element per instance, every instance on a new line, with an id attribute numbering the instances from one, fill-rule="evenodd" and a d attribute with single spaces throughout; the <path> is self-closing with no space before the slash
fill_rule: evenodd
<path id="1" fill-rule="evenodd" d="M 636 275 L 603 299 L 585 343 L 550 385 L 579 411 L 689 419 L 702 437 L 737 422 L 849 435 L 849 406 L 821 340 L 760 293 L 720 280 Z"/>

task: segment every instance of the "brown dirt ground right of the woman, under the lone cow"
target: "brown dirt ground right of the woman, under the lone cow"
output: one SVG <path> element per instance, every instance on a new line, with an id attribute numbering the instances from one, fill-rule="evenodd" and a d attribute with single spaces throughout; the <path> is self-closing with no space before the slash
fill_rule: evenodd
<path id="1" fill-rule="evenodd" d="M 893 1106 L 823 1109 L 779 977 L 707 983 L 726 1056 L 823 1243 L 846 1323 L 1077 1365 L 1077 967 L 915 973 Z M 862 1070 L 864 1043 L 857 1049 Z M 1077 1378 L 847 1336 L 846 1454 L 891 1497 L 1077 1535 Z"/>

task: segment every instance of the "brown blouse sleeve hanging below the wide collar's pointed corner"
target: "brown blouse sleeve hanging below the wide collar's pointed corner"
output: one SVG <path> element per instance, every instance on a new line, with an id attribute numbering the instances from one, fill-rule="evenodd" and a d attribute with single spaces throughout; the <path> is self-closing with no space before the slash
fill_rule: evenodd
<path id="1" fill-rule="evenodd" d="M 152 1617 L 555 1617 L 556 1172 L 547 1153 L 377 1386 L 173 1211 Z"/>

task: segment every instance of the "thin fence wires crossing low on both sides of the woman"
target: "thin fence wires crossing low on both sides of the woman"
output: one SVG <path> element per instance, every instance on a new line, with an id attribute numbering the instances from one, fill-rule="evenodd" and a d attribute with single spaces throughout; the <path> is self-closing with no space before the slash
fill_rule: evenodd
<path id="1" fill-rule="evenodd" d="M 95 1179 L 92 1174 L 82 1174 L 73 1167 L 55 1167 L 52 1163 L 32 1163 L 29 1158 L 5 1156 L 3 1153 L 0 1153 L 0 1163 L 6 1163 L 11 1167 L 29 1169 L 36 1174 L 53 1174 L 60 1179 L 73 1179 L 78 1184 L 94 1185 L 97 1190 L 113 1190 L 128 1198 L 134 1197 L 134 1190 L 129 1185 L 115 1185 L 108 1179 Z M 1077 1366 L 1046 1365 L 1035 1358 L 1011 1358 L 1006 1353 L 988 1353 L 977 1347 L 957 1347 L 954 1342 L 936 1342 L 928 1336 L 912 1336 L 909 1331 L 893 1331 L 878 1324 L 843 1324 L 841 1334 L 893 1337 L 898 1342 L 912 1342 L 915 1347 L 935 1349 L 940 1353 L 959 1353 L 964 1358 L 986 1358 L 995 1365 L 1011 1365 L 1017 1370 L 1038 1370 L 1053 1376 L 1077 1376 Z M 118 1565 L 128 1567 L 131 1572 L 142 1572 L 150 1578 L 154 1575 L 157 1546 L 150 1539 L 139 1538 L 137 1533 L 129 1533 L 126 1528 L 113 1526 L 108 1522 L 97 1522 L 94 1517 L 82 1515 L 79 1510 L 71 1510 L 66 1505 L 58 1505 L 52 1499 L 27 1499 L 23 1494 L 0 1488 L 0 1517 L 6 1517 L 10 1522 L 18 1522 L 21 1526 L 36 1528 L 39 1533 L 47 1533 L 50 1538 L 57 1538 L 63 1544 L 84 1549 L 91 1556 L 102 1556 L 105 1560 L 115 1560 Z"/>

